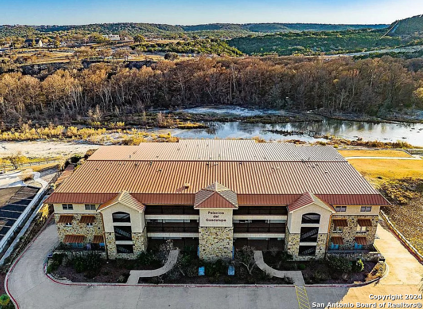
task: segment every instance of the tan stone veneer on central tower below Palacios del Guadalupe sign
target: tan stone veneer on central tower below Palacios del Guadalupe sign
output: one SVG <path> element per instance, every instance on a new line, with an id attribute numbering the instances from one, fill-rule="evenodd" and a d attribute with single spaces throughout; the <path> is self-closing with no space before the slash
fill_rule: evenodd
<path id="1" fill-rule="evenodd" d="M 199 227 L 199 258 L 205 260 L 232 259 L 233 227 Z"/>

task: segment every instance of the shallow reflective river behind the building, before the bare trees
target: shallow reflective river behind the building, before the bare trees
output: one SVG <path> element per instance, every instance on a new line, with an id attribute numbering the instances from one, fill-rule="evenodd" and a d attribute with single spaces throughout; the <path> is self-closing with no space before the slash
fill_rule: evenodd
<path id="1" fill-rule="evenodd" d="M 231 110 L 231 109 L 229 109 Z M 189 112 L 200 112 L 190 109 Z M 209 109 L 210 113 L 216 109 Z M 207 112 L 207 110 L 206 110 Z M 220 109 L 219 111 L 220 112 Z M 228 112 L 228 110 L 226 110 Z M 249 115 L 247 109 L 231 110 L 232 114 Z M 257 110 L 250 111 L 252 115 Z M 205 109 L 201 109 L 205 113 Z M 274 111 L 260 110 L 260 113 L 274 113 Z M 182 138 L 252 138 L 260 136 L 266 140 L 299 139 L 308 142 L 322 138 L 314 138 L 316 135 L 335 135 L 337 137 L 354 140 L 358 137 L 363 140 L 380 141 L 406 141 L 414 146 L 423 147 L 423 124 L 411 123 L 367 123 L 359 121 L 342 121 L 323 118 L 321 122 L 293 122 L 284 124 L 250 124 L 241 122 L 205 122 L 208 129 L 160 129 L 159 133 L 171 132 L 173 136 Z M 283 135 L 270 131 L 293 132 Z"/>

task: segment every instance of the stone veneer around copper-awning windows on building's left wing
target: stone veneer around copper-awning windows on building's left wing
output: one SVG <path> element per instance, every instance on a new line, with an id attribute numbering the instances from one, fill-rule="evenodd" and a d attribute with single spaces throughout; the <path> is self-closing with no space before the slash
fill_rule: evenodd
<path id="1" fill-rule="evenodd" d="M 60 215 L 72 215 L 74 219 L 72 221 L 72 226 L 65 226 L 64 223 L 58 223 Z M 94 235 L 102 235 L 104 231 L 103 221 L 101 220 L 100 213 L 93 213 L 89 214 L 89 216 L 95 216 L 96 219 L 93 223 L 93 226 L 86 226 L 86 223 L 79 223 L 81 220 L 81 216 L 88 216 L 88 214 L 84 213 L 55 213 L 54 219 L 56 220 L 56 229 L 57 234 L 59 236 L 59 241 L 62 242 L 64 239 L 64 235 L 66 234 L 79 234 L 85 235 L 84 245 L 87 243 L 91 243 L 93 241 Z"/>

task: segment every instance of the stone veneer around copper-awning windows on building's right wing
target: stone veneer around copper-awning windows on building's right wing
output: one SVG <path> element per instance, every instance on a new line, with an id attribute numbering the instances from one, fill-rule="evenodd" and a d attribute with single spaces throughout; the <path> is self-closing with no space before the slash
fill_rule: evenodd
<path id="1" fill-rule="evenodd" d="M 333 232 L 333 219 L 346 219 L 348 221 L 348 226 L 344 227 L 342 233 Z M 358 219 L 371 220 L 372 226 L 367 227 L 366 233 L 357 232 Z M 366 237 L 367 246 L 363 246 L 363 249 L 372 250 L 378 221 L 379 216 L 332 216 L 329 228 L 329 249 L 332 244 L 332 236 L 342 236 L 344 244 L 339 246 L 339 250 L 353 250 L 355 237 Z"/>

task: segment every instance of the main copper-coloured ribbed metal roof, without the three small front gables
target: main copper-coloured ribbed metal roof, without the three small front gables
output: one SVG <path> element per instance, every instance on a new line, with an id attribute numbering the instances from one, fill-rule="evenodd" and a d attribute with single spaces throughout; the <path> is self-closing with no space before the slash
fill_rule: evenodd
<path id="1" fill-rule="evenodd" d="M 251 140 L 189 140 L 135 147 L 102 147 L 47 203 L 100 204 L 127 191 L 139 203 L 192 205 L 198 191 L 219 182 L 237 195 L 240 205 L 288 205 L 305 192 L 331 205 L 389 205 L 330 147 Z M 202 157 L 204 153 L 208 157 Z M 305 155 L 305 161 L 296 161 Z"/>

